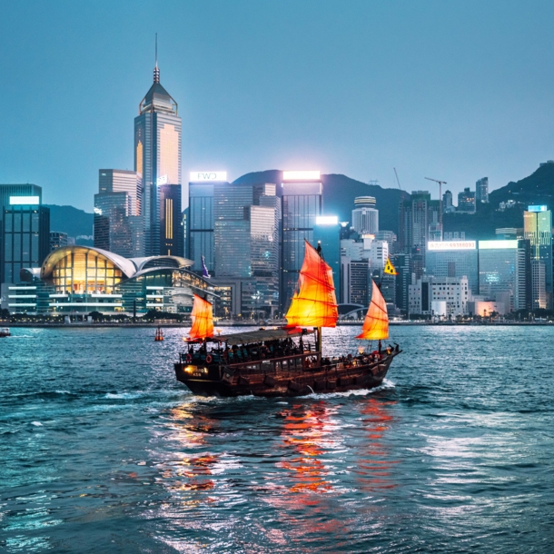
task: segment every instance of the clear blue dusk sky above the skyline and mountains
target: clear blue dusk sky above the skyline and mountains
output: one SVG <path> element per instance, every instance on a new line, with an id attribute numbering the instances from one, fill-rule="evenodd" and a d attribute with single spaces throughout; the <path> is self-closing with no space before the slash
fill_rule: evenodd
<path id="1" fill-rule="evenodd" d="M 0 183 L 92 212 L 161 82 L 190 171 L 319 169 L 458 193 L 554 159 L 554 3 L 0 0 Z"/>

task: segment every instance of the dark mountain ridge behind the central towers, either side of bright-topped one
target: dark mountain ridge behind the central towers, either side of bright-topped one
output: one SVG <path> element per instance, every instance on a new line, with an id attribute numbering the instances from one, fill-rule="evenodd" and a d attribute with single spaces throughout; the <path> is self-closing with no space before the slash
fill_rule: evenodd
<path id="1" fill-rule="evenodd" d="M 282 183 L 282 171 L 271 169 L 246 173 L 232 184 Z M 351 222 L 356 196 L 374 196 L 379 210 L 379 228 L 398 233 L 398 207 L 401 197 L 408 197 L 398 189 L 383 189 L 378 184 L 361 183 L 340 173 L 322 175 L 323 213 L 338 215 L 339 221 Z"/>

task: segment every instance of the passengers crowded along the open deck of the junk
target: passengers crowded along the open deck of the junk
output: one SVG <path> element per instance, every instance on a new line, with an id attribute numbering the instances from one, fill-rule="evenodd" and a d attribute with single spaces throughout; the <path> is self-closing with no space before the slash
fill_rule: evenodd
<path id="1" fill-rule="evenodd" d="M 272 358 L 287 358 L 294 355 L 300 354 L 310 354 L 311 352 L 315 353 L 315 346 L 312 346 L 310 342 L 304 343 L 302 337 L 300 341 L 295 343 L 290 337 L 280 341 L 263 341 L 263 342 L 254 342 L 251 344 L 243 344 L 238 346 L 233 344 L 232 347 L 225 345 L 225 347 L 219 347 L 213 349 L 212 351 L 207 350 L 206 342 L 203 342 L 200 349 L 194 351 L 193 343 L 189 346 L 188 355 L 190 356 L 191 361 L 193 359 L 200 358 L 205 361 L 206 357 L 210 355 L 213 361 L 218 361 L 219 358 L 225 363 L 242 363 L 246 361 L 259 361 L 259 360 L 268 360 Z M 353 360 L 359 360 L 361 363 L 371 363 L 373 361 L 379 361 L 383 357 L 384 353 L 390 354 L 392 351 L 399 351 L 399 345 L 396 346 L 389 345 L 384 351 L 381 351 L 381 344 L 379 350 L 370 352 L 361 353 L 359 356 L 352 357 L 351 354 L 348 356 L 341 356 L 340 358 L 335 358 L 331 360 L 330 358 L 322 358 L 322 366 L 335 364 L 337 362 L 342 363 L 352 363 Z M 315 360 L 315 357 L 313 358 Z"/>

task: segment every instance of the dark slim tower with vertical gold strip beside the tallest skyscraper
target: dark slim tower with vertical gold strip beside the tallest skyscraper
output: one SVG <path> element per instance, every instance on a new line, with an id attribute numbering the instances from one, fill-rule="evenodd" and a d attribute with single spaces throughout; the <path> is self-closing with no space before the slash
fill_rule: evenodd
<path id="1" fill-rule="evenodd" d="M 183 256 L 183 222 L 181 216 L 181 185 L 161 184 L 160 198 L 160 253 Z"/>

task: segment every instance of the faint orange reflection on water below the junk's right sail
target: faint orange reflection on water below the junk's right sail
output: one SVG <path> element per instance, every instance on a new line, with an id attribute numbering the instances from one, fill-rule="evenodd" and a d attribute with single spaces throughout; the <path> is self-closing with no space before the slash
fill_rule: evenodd
<path id="1" fill-rule="evenodd" d="M 383 402 L 368 398 L 361 407 L 361 424 L 366 431 L 361 447 L 361 459 L 355 473 L 361 481 L 361 490 L 392 489 L 396 483 L 391 481 L 391 468 L 400 460 L 391 460 L 390 449 L 383 442 L 387 430 L 391 428 L 394 416 L 388 406 L 394 401 Z"/>

